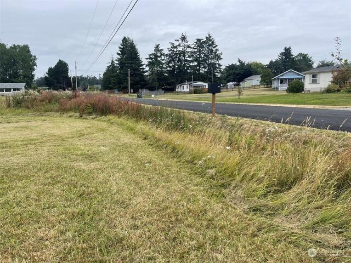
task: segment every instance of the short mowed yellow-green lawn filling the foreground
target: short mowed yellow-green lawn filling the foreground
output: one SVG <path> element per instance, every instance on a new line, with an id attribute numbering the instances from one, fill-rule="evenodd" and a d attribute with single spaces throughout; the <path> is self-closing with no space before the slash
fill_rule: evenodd
<path id="1" fill-rule="evenodd" d="M 0 117 L 0 262 L 313 261 L 113 118 Z"/>

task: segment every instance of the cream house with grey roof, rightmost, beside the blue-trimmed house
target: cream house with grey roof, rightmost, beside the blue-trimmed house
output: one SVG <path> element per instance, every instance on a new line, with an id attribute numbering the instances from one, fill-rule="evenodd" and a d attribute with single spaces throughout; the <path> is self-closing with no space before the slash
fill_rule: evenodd
<path id="1" fill-rule="evenodd" d="M 327 66 L 313 68 L 304 72 L 305 74 L 305 91 L 319 92 L 325 89 L 332 81 L 333 72 L 338 70 L 339 66 Z"/>

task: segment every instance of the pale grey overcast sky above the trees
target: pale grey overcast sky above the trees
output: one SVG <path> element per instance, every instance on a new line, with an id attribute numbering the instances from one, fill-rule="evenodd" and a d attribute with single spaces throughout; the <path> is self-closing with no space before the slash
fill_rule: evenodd
<path id="1" fill-rule="evenodd" d="M 97 1 L 0 2 L 0 40 L 27 44 L 38 58 L 35 75 L 65 60 L 72 73 Z M 118 0 L 114 12 L 87 61 L 115 0 L 99 1 L 86 44 L 79 56 L 78 75 L 98 54 L 129 1 Z M 189 42 L 210 32 L 223 52 L 222 65 L 244 61 L 268 63 L 284 46 L 308 53 L 314 61 L 330 59 L 333 39 L 342 39 L 342 56 L 351 58 L 351 0 L 331 1 L 206 1 L 139 0 L 120 31 L 88 74 L 103 73 L 121 38 L 130 36 L 145 60 L 155 43 L 167 49 L 182 32 Z M 86 62 L 87 61 L 87 62 Z M 84 63 L 86 62 L 86 65 Z M 82 71 L 80 71 L 82 70 Z"/>

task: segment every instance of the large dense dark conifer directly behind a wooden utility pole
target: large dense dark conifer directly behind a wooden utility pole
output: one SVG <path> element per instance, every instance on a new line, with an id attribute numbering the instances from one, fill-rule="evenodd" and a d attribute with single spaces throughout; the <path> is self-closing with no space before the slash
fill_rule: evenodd
<path id="1" fill-rule="evenodd" d="M 144 64 L 141 61 L 139 51 L 134 44 L 134 41 L 129 37 L 122 39 L 121 45 L 118 48 L 117 59 L 118 65 L 118 89 L 128 88 L 128 69 L 130 69 L 130 85 L 135 91 L 144 88 Z"/>

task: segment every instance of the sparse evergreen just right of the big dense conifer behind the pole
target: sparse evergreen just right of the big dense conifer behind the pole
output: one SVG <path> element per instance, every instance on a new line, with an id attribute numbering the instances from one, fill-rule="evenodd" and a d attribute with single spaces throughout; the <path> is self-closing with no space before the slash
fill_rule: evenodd
<path id="1" fill-rule="evenodd" d="M 146 58 L 148 79 L 150 84 L 158 89 L 165 85 L 165 53 L 159 44 L 155 45 L 153 53 Z"/>

